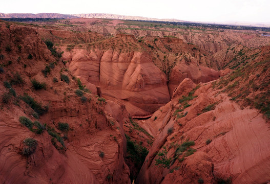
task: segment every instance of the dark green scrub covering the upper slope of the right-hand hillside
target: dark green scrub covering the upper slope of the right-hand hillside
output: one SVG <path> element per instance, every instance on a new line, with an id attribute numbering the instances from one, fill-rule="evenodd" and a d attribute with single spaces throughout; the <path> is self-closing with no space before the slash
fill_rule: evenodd
<path id="1" fill-rule="evenodd" d="M 239 54 L 239 53 L 238 53 Z M 241 53 L 240 53 L 241 54 Z M 222 77 L 212 83 L 213 88 L 221 89 L 227 86 L 222 92 L 230 92 L 228 96 L 232 96 L 230 100 L 241 102 L 244 106 L 251 106 L 261 111 L 266 119 L 270 118 L 270 92 L 269 92 L 269 77 L 267 71 L 269 71 L 270 58 L 267 57 L 264 60 L 260 58 L 259 53 L 251 56 L 253 60 L 238 68 L 227 77 Z M 256 74 L 256 75 L 255 75 Z M 241 81 L 241 82 L 240 82 Z M 232 84 L 229 84 L 232 82 Z M 239 88 L 239 85 L 243 87 Z M 254 94 L 251 95 L 250 94 Z"/>

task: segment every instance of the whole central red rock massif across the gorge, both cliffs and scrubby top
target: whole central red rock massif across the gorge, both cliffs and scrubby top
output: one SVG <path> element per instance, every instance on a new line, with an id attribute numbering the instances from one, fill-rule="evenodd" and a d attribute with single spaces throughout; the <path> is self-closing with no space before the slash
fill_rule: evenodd
<path id="1" fill-rule="evenodd" d="M 132 35 L 119 34 L 71 52 L 65 50 L 64 59 L 70 61 L 71 72 L 85 81 L 84 85 L 100 86 L 104 97 L 126 104 L 131 114 L 149 114 L 165 105 L 186 77 L 199 83 L 220 76 L 207 67 L 213 58 L 181 39 L 152 37 L 146 44 L 148 47 Z"/>

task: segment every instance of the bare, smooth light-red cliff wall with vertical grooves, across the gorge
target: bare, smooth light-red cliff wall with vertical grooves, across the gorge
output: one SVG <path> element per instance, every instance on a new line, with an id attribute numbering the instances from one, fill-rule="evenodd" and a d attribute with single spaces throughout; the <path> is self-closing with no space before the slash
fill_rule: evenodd
<path id="1" fill-rule="evenodd" d="M 119 35 L 108 44 L 120 44 L 122 40 L 126 44 L 135 42 L 132 37 Z M 69 68 L 75 76 L 100 86 L 102 96 L 127 102 L 132 114 L 146 114 L 169 102 L 167 79 L 150 56 L 143 51 L 122 52 L 119 45 L 116 47 L 75 50 Z"/>

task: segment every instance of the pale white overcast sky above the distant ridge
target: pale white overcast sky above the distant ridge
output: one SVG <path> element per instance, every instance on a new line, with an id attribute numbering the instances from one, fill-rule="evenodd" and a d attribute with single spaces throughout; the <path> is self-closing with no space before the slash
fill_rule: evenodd
<path id="1" fill-rule="evenodd" d="M 1 13 L 112 13 L 190 21 L 270 22 L 270 0 L 3 0 Z"/>

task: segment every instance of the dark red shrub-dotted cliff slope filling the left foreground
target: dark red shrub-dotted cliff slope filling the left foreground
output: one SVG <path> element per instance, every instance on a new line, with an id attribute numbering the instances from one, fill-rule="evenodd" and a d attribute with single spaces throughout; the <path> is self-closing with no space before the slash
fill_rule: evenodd
<path id="1" fill-rule="evenodd" d="M 76 95 L 77 79 L 36 29 L 0 24 L 0 181 L 130 183 L 124 107 L 87 92 Z"/>

